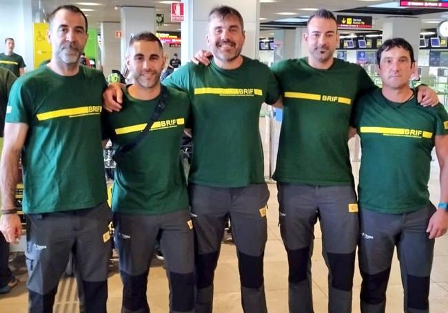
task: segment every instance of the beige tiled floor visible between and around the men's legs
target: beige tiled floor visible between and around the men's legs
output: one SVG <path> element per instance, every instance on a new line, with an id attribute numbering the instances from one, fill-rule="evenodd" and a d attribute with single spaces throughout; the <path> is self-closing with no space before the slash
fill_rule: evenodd
<path id="1" fill-rule="evenodd" d="M 438 202 L 438 164 L 433 162 L 429 183 L 431 199 Z M 354 173 L 358 173 L 358 163 L 354 163 Z M 268 241 L 265 252 L 265 290 L 267 305 L 271 313 L 287 313 L 287 258 L 280 232 L 278 230 L 278 204 L 276 186 L 269 184 Z M 316 313 L 327 312 L 327 269 L 321 256 L 320 229 L 316 226 L 316 240 L 312 257 L 314 310 Z M 434 266 L 431 275 L 430 305 L 431 313 L 448 312 L 448 235 L 436 240 Z M 27 293 L 25 288 L 26 271 L 17 270 L 19 286 L 10 294 L 0 296 L 0 312 L 26 312 Z M 119 312 L 121 303 L 121 281 L 116 268 L 112 268 L 109 279 L 109 312 Z M 59 285 L 55 312 L 77 312 L 76 288 L 70 279 Z M 353 312 L 360 312 L 358 295 L 360 292 L 360 275 L 356 270 L 354 278 Z M 167 312 L 168 287 L 163 267 L 154 266 L 150 270 L 148 292 L 151 312 Z M 214 312 L 242 312 L 239 294 L 238 264 L 232 244 L 223 244 L 221 257 L 215 277 Z M 403 289 L 400 281 L 398 261 L 394 264 L 387 289 L 387 312 L 403 312 Z"/>

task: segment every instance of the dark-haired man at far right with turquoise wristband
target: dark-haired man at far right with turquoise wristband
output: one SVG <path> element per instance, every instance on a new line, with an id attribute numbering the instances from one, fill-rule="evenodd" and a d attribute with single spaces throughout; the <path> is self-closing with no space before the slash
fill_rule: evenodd
<path id="1" fill-rule="evenodd" d="M 389 39 L 376 54 L 382 89 L 358 99 L 353 124 L 363 151 L 360 206 L 360 300 L 365 313 L 385 312 L 387 281 L 397 247 L 405 312 L 429 312 L 434 239 L 448 227 L 448 114 L 421 107 L 409 88 L 416 70 L 405 39 Z M 440 203 L 429 201 L 431 151 L 440 165 Z"/>

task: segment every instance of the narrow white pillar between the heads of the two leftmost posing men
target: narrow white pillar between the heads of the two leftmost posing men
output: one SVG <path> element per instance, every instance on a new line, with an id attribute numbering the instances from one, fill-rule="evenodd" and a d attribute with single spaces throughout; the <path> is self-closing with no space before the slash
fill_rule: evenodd
<path id="1" fill-rule="evenodd" d="M 112 69 L 121 71 L 121 39 L 115 37 L 117 30 L 120 30 L 120 23 L 101 22 L 101 65 L 106 77 Z"/>

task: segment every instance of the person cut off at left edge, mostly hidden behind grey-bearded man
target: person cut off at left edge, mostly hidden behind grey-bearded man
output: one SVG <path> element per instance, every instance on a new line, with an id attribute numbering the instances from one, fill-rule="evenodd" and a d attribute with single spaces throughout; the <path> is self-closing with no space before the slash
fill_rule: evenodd
<path id="1" fill-rule="evenodd" d="M 0 67 L 0 151 L 3 148 L 3 127 L 5 126 L 8 95 L 15 80 L 16 76 L 9 69 Z M 10 292 L 11 288 L 17 285 L 17 279 L 12 276 L 8 267 L 9 257 L 10 244 L 0 233 L 0 294 Z"/>

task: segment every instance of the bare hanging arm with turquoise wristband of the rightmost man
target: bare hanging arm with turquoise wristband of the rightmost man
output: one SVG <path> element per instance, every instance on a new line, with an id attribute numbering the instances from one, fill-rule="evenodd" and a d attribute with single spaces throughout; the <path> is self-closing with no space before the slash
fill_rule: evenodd
<path id="1" fill-rule="evenodd" d="M 448 228 L 448 135 L 436 136 L 436 153 L 440 166 L 440 203 L 436 213 L 429 219 L 426 232 L 429 239 L 447 233 Z"/>

